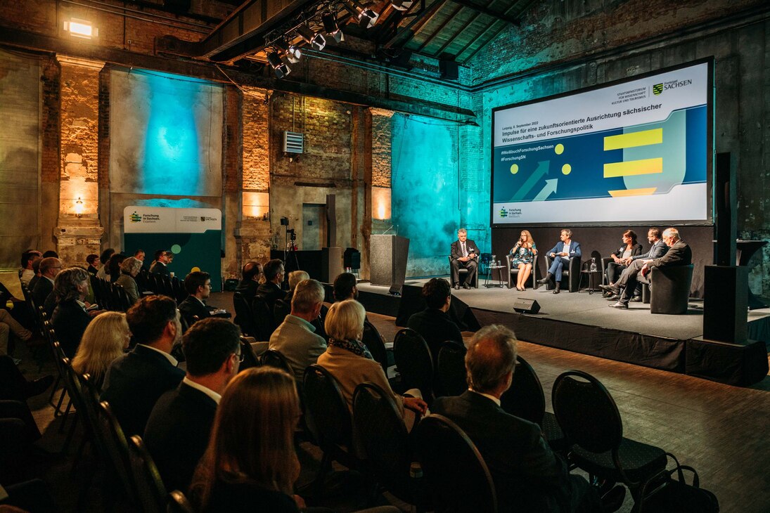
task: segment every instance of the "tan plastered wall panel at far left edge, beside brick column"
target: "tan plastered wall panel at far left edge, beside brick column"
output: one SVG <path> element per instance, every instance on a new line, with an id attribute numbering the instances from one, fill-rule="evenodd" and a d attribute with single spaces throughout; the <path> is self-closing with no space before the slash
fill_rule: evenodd
<path id="1" fill-rule="evenodd" d="M 37 59 L 0 50 L 0 268 L 40 245 L 40 74 Z"/>

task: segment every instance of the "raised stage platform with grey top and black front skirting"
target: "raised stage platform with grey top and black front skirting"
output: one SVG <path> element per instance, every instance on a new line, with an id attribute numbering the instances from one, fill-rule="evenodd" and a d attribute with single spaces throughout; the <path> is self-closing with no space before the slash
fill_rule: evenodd
<path id="1" fill-rule="evenodd" d="M 360 301 L 367 311 L 397 318 L 405 326 L 409 315 L 424 308 L 420 288 L 425 279 L 407 278 L 401 297 L 387 287 L 360 282 Z M 765 341 L 770 341 L 770 308 L 748 312 L 748 336 L 742 345 L 705 341 L 703 302 L 690 302 L 687 315 L 651 314 L 650 306 L 631 302 L 628 310 L 609 308 L 601 292 L 553 294 L 545 286 L 519 292 L 515 288 L 452 290 L 453 315 L 475 331 L 503 324 L 521 340 L 634 365 L 694 375 L 730 385 L 752 385 L 768 374 Z M 537 314 L 519 314 L 517 298 L 537 301 Z M 458 301 L 459 300 L 459 301 Z"/>

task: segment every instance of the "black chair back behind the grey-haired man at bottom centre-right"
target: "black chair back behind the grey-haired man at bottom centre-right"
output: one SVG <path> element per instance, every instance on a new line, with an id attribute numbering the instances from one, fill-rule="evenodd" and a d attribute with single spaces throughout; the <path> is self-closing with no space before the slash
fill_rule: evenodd
<path id="1" fill-rule="evenodd" d="M 497 511 L 489 468 L 459 426 L 441 415 L 428 415 L 415 436 L 434 511 Z"/>

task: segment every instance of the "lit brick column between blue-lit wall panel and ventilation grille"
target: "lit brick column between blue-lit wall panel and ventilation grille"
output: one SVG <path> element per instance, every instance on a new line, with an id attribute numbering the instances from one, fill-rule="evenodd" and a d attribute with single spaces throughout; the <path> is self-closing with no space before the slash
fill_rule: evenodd
<path id="1" fill-rule="evenodd" d="M 250 260 L 266 262 L 270 258 L 270 109 L 265 102 L 269 94 L 265 89 L 245 87 L 241 95 L 241 208 L 235 230 L 239 268 Z"/>

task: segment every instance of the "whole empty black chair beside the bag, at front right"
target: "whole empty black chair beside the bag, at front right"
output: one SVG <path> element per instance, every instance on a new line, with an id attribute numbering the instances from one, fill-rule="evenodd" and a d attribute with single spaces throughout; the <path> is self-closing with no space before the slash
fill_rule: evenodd
<path id="1" fill-rule="evenodd" d="M 665 451 L 624 438 L 618 406 L 607 388 L 586 372 L 559 375 L 552 402 L 557 421 L 573 444 L 571 460 L 591 475 L 627 485 L 641 508 L 644 485 L 665 471 Z"/>

